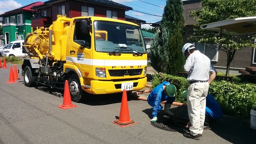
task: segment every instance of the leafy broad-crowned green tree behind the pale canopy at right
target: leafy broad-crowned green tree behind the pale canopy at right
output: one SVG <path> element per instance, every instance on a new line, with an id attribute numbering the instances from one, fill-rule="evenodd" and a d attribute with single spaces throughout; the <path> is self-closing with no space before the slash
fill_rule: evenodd
<path id="1" fill-rule="evenodd" d="M 221 20 L 255 16 L 256 5 L 254 3 L 255 0 L 201 0 L 201 10 L 190 12 L 196 24 L 194 24 L 194 35 L 189 36 L 188 40 L 203 45 L 209 44 L 211 45 L 209 48 L 224 51 L 227 54 L 226 76 L 229 75 L 230 64 L 236 51 L 248 47 L 256 48 L 253 44 L 256 35 L 230 36 L 224 33 L 220 35 L 203 30 L 199 26 Z M 219 47 L 216 47 L 216 44 Z"/>

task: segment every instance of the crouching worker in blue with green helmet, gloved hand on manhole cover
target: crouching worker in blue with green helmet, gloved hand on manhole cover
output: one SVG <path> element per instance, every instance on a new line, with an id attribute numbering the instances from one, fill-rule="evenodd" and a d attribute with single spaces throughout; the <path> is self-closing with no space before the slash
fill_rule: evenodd
<path id="1" fill-rule="evenodd" d="M 148 104 L 153 107 L 151 122 L 157 121 L 157 112 L 159 112 L 163 106 L 160 102 L 165 101 L 164 104 L 164 113 L 170 116 L 173 116 L 173 113 L 170 112 L 171 105 L 175 100 L 176 87 L 173 84 L 170 84 L 167 81 L 164 81 L 162 84 L 156 86 L 148 96 Z"/>

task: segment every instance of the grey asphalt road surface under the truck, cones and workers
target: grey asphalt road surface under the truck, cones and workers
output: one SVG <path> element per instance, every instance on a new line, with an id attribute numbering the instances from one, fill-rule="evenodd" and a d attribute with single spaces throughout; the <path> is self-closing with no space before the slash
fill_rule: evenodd
<path id="1" fill-rule="evenodd" d="M 205 130 L 200 140 L 183 136 L 184 128 L 159 113 L 169 131 L 150 123 L 147 102 L 128 96 L 129 116 L 137 124 L 125 128 L 113 124 L 120 115 L 121 95 L 89 96 L 76 108 L 63 110 L 63 92 L 28 88 L 23 77 L 8 84 L 10 66 L 0 68 L 0 144 L 255 144 L 256 130 L 247 121 L 224 116 Z M 18 65 L 17 68 L 21 68 Z M 174 111 L 175 107 L 172 107 Z M 160 126 L 164 126 L 159 123 Z M 170 131 L 171 129 L 171 131 Z"/>

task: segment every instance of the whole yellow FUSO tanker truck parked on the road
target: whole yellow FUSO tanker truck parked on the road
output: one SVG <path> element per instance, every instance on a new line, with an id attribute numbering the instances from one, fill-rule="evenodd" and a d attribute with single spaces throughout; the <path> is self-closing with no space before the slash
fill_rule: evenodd
<path id="1" fill-rule="evenodd" d="M 80 102 L 91 94 L 140 90 L 147 83 L 147 52 L 140 27 L 124 20 L 57 16 L 24 40 L 25 86 L 64 89 Z"/>

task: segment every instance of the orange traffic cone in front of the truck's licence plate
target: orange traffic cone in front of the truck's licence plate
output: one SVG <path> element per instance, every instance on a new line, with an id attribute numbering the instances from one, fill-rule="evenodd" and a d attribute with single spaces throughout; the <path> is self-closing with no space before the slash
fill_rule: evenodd
<path id="1" fill-rule="evenodd" d="M 126 127 L 132 124 L 136 124 L 135 121 L 130 119 L 127 94 L 125 89 L 123 91 L 119 119 L 112 121 L 112 123 L 117 124 L 120 127 Z"/>

